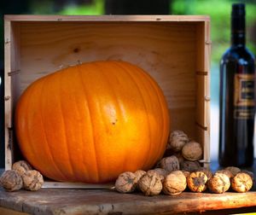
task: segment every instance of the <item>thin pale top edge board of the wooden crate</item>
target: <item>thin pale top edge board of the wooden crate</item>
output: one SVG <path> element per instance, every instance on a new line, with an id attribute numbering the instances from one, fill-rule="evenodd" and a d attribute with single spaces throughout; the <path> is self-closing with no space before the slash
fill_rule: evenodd
<path id="1" fill-rule="evenodd" d="M 5 15 L 12 21 L 206 21 L 207 15 Z"/>

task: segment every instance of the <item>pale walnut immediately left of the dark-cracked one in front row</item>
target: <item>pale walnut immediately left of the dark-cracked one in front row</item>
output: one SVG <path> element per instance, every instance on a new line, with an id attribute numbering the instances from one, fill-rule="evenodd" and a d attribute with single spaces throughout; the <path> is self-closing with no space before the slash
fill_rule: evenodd
<path id="1" fill-rule="evenodd" d="M 182 171 L 172 171 L 166 176 L 163 183 L 163 192 L 166 195 L 179 195 L 187 187 L 186 177 Z"/>

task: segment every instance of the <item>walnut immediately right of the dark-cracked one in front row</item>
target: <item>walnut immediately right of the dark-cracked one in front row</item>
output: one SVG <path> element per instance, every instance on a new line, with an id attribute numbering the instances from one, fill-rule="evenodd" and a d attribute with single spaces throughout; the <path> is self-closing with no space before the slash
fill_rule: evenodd
<path id="1" fill-rule="evenodd" d="M 223 194 L 230 189 L 230 178 L 224 173 L 215 173 L 207 185 L 212 193 Z"/>

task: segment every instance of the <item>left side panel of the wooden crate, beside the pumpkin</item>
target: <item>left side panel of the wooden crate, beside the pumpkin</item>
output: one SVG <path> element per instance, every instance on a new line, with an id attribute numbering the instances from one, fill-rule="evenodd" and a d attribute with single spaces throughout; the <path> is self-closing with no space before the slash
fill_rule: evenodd
<path id="1" fill-rule="evenodd" d="M 14 101 L 19 95 L 20 26 L 5 20 L 5 168 L 10 169 L 20 150 L 15 145 Z"/>

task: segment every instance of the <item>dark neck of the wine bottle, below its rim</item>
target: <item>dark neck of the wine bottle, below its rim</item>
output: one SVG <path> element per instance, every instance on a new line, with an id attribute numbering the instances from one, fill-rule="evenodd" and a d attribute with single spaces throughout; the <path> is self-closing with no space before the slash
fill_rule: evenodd
<path id="1" fill-rule="evenodd" d="M 233 15 L 231 17 L 231 46 L 245 47 L 245 15 Z"/>

